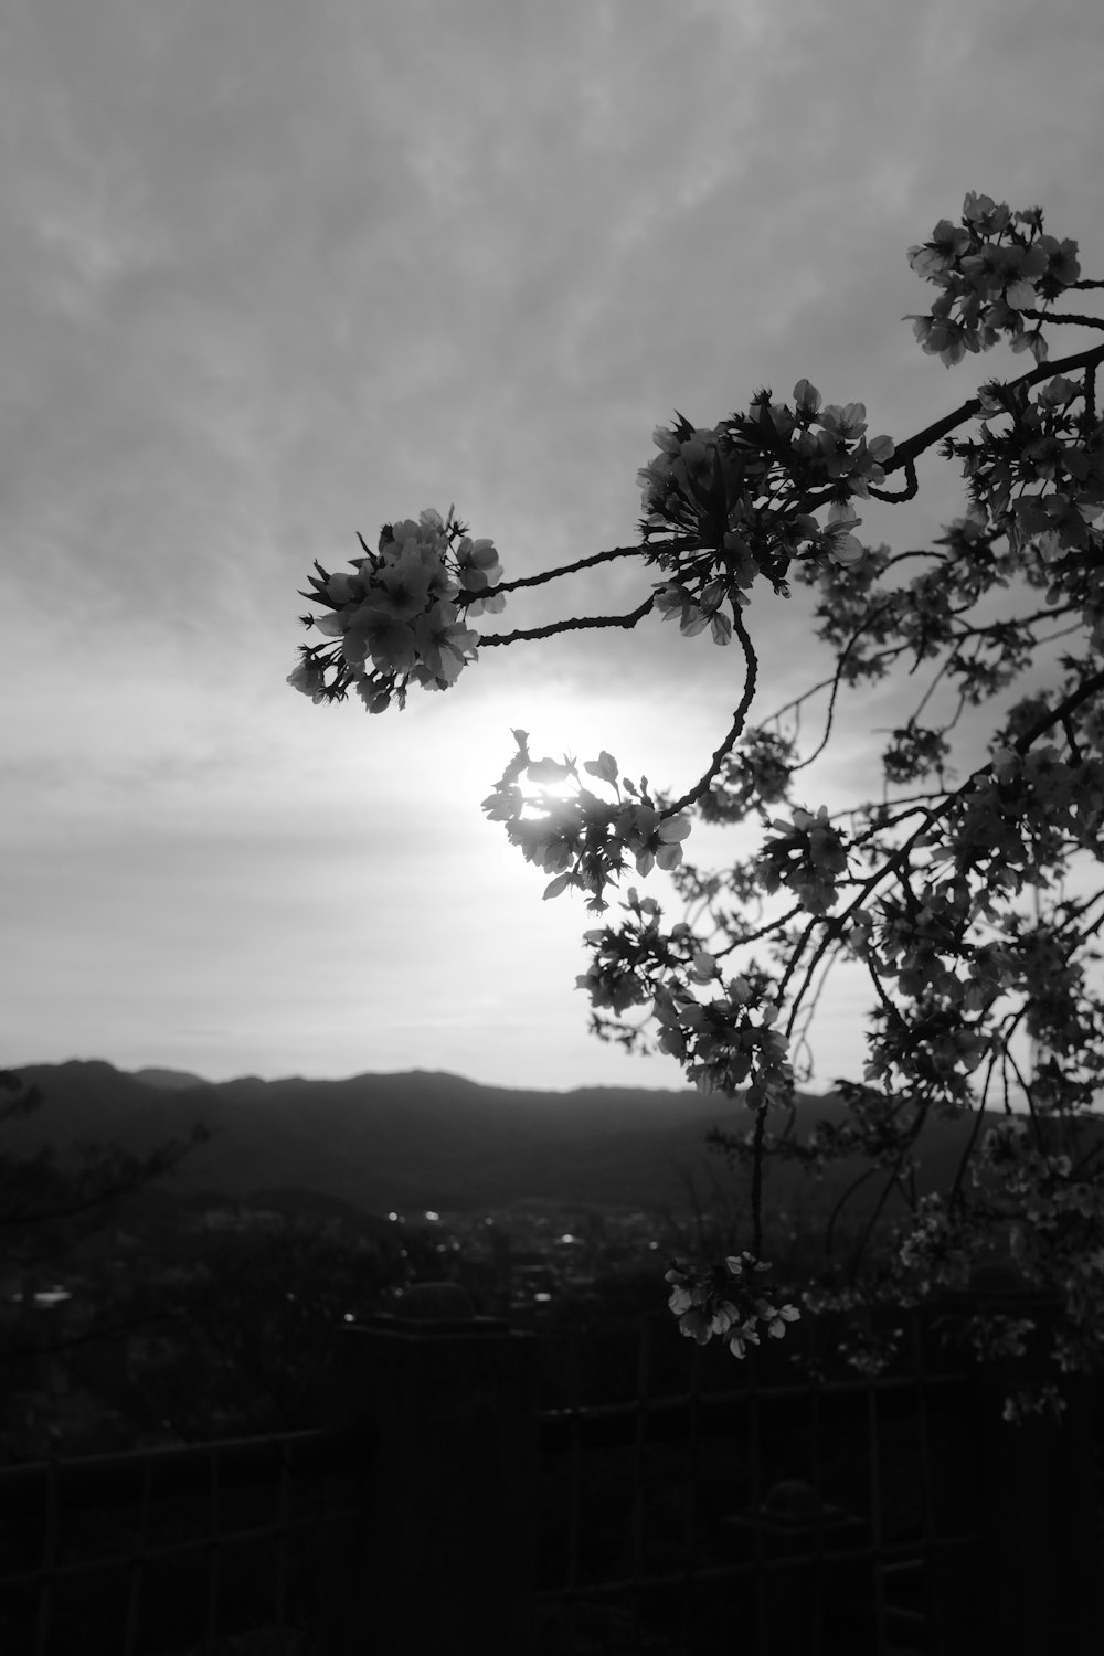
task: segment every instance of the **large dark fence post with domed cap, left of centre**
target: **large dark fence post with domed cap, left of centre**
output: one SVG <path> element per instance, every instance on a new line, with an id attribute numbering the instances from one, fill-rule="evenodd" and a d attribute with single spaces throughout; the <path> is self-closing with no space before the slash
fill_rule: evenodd
<path id="1" fill-rule="evenodd" d="M 374 1456 L 331 1570 L 326 1656 L 530 1656 L 536 1336 L 425 1283 L 402 1317 L 338 1331 L 329 1403 L 369 1424 Z"/>

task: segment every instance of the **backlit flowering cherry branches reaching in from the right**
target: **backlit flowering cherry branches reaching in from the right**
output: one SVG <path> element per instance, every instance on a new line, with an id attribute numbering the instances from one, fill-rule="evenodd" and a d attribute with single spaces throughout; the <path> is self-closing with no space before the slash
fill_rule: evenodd
<path id="1" fill-rule="evenodd" d="M 324 613 L 305 619 L 331 643 L 303 646 L 291 682 L 314 700 L 353 686 L 377 712 L 410 682 L 449 689 L 477 643 L 629 629 L 650 613 L 689 638 L 735 639 L 743 694 L 685 793 L 621 775 L 607 752 L 581 768 L 536 758 L 518 730 L 485 802 L 551 876 L 545 898 L 578 889 L 607 916 L 611 888 L 631 868 L 644 878 L 659 866 L 684 904 L 667 924 L 660 904 L 629 886 L 619 914 L 586 932 L 591 964 L 579 977 L 599 1037 L 672 1053 L 700 1088 L 740 1098 L 748 1113 L 723 1144 L 751 1169 L 746 1259 L 740 1272 L 674 1267 L 672 1310 L 684 1333 L 720 1336 L 737 1355 L 756 1317 L 785 1331 L 776 1293 L 763 1290 L 756 1313 L 750 1290 L 733 1288 L 761 1264 L 765 1166 L 794 1158 L 818 1176 L 859 1154 L 879 1191 L 871 1227 L 892 1196 L 909 1214 L 890 1265 L 879 1267 L 879 1293 L 912 1303 L 1010 1254 L 1025 1285 L 1059 1297 L 1056 1366 L 1097 1368 L 1104 344 L 1049 363 L 1048 333 L 1104 328 L 1061 308 L 1074 290 L 1104 283 L 1081 277 L 1078 243 L 1046 233 L 1039 209 L 1011 212 L 973 192 L 960 220 L 940 220 L 909 263 L 937 288 L 930 310 L 909 318 L 925 353 L 952 366 L 1008 343 L 1033 366 L 988 379 L 904 442 L 867 437 L 861 402 L 824 404 L 808 379 L 790 401 L 756 391 L 712 427 L 679 414 L 655 432 L 657 452 L 639 474 L 639 543 L 520 581 L 487 575 L 493 546 L 470 542 L 452 512 L 387 525 L 353 576 L 319 568 L 313 578 L 306 596 Z M 861 542 L 859 503 L 914 498 L 915 462 L 929 450 L 960 464 L 963 515 L 927 548 Z M 902 487 L 887 487 L 892 474 Z M 520 586 L 621 558 L 650 571 L 629 614 L 482 641 L 463 626 Z M 765 586 L 788 598 L 791 583 L 808 590 L 814 636 L 834 666 L 751 722 L 755 604 Z M 455 639 L 447 656 L 434 644 L 442 629 Z M 801 800 L 801 770 L 829 747 L 844 694 L 914 676 L 922 689 L 882 753 L 881 798 L 842 811 Z M 803 714 L 818 699 L 821 730 L 809 742 Z M 963 757 L 957 780 L 952 760 Z M 758 825 L 761 843 L 722 871 L 698 868 L 684 854 L 695 815 Z M 824 980 L 842 960 L 869 980 L 867 1063 L 838 1083 L 846 1124 L 803 1139 L 794 1083 Z M 1038 1055 L 1031 1073 L 1026 1043 Z M 924 1129 L 937 1118 L 973 1126 L 950 1184 L 917 1196 Z M 856 1259 L 849 1285 L 804 1303 L 846 1303 L 859 1268 Z"/>

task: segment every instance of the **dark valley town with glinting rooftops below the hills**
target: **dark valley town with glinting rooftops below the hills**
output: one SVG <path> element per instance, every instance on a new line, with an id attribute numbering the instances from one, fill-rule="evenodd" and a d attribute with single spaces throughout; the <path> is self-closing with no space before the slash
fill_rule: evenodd
<path id="1" fill-rule="evenodd" d="M 301 1197 L 301 1201 L 296 1201 Z M 402 1315 L 417 1283 L 540 1330 L 569 1307 L 662 1312 L 677 1235 L 632 1207 L 326 1212 L 313 1192 L 166 1201 L 68 1259 L 0 1275 L 0 1457 L 296 1429 L 338 1323 Z"/>

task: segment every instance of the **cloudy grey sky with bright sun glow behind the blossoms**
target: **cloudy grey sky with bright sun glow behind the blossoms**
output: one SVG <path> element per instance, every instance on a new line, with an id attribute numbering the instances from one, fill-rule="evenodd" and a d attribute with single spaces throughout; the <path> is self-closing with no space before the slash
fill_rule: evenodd
<path id="1" fill-rule="evenodd" d="M 450 502 L 506 578 L 631 543 L 675 409 L 806 376 L 900 440 L 1021 371 L 920 354 L 905 252 L 975 189 L 1102 275 L 1102 93 L 1094 0 L 7 0 L 0 1063 L 682 1085 L 588 1033 L 593 917 L 480 800 L 515 727 L 685 790 L 737 651 L 649 618 L 369 719 L 286 686 L 296 590 Z M 962 510 L 920 482 L 864 538 Z M 799 598 L 748 624 L 761 717 L 819 657 Z M 849 707 L 806 805 L 892 712 Z M 861 1004 L 826 997 L 813 1088 L 857 1071 Z"/>

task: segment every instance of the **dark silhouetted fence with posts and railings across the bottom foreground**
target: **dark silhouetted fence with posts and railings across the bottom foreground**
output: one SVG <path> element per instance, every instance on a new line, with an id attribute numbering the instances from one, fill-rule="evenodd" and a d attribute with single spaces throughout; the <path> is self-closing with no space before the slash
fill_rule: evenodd
<path id="1" fill-rule="evenodd" d="M 3 1656 L 1104 1648 L 1089 1383 L 1008 1427 L 915 1318 L 877 1379 L 672 1394 L 644 1335 L 632 1399 L 541 1409 L 533 1335 L 435 1310 L 339 1331 L 328 1431 L 0 1472 Z"/>

